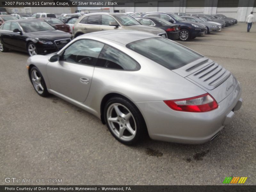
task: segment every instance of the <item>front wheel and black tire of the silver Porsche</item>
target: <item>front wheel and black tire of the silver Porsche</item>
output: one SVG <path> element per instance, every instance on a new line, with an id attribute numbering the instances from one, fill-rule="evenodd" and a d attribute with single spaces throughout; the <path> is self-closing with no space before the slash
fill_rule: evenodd
<path id="1" fill-rule="evenodd" d="M 40 80 L 36 81 L 35 75 L 33 74 L 34 72 L 36 72 L 36 76 L 38 78 L 41 77 Z M 40 73 L 38 68 L 36 68 L 36 67 L 31 68 L 31 70 L 29 72 L 29 78 L 30 78 L 30 81 L 38 95 L 40 95 L 42 97 L 46 97 L 47 95 L 49 95 L 49 92 L 47 91 L 46 84 L 44 82 L 44 77 L 42 76 L 42 74 Z M 41 86 L 43 87 L 43 90 L 42 90 L 42 88 L 40 88 L 39 84 L 41 84 Z M 36 85 L 38 85 L 38 86 L 36 86 Z M 38 90 L 36 87 L 38 88 Z"/>

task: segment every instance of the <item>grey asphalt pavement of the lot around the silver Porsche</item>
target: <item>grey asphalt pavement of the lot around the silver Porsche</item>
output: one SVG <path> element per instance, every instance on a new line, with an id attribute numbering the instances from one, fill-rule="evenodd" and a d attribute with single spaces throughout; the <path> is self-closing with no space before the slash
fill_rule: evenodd
<path id="1" fill-rule="evenodd" d="M 256 25 L 224 28 L 185 46 L 216 61 L 241 83 L 243 106 L 214 140 L 200 145 L 150 139 L 119 143 L 101 121 L 68 102 L 40 97 L 22 52 L 0 52 L 0 185 L 5 178 L 61 179 L 62 185 L 256 184 Z M 30 183 L 31 184 L 31 183 Z"/>

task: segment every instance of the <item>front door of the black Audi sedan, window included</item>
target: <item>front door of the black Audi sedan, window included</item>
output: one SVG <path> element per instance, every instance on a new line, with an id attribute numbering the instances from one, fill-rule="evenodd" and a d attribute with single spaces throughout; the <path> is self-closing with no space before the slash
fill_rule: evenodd
<path id="1" fill-rule="evenodd" d="M 22 33 L 20 34 L 19 32 L 13 32 L 14 29 L 19 29 L 20 31 L 22 31 Z M 20 49 L 22 51 L 26 50 L 27 37 L 17 22 L 11 22 L 11 31 L 12 32 L 10 32 L 10 44 L 12 45 L 12 47 L 14 47 L 15 49 Z"/>

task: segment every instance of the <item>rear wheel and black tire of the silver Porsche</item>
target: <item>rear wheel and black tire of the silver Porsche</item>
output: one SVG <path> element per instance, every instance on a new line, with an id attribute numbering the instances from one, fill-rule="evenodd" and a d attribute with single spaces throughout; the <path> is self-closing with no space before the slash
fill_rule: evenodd
<path id="1" fill-rule="evenodd" d="M 120 118 L 121 116 L 118 116 L 115 106 L 118 106 L 118 109 L 123 113 L 123 115 L 127 115 L 129 112 L 132 115 L 127 119 L 125 119 L 126 116 L 122 116 L 124 118 Z M 116 121 L 119 122 L 111 122 L 108 120 L 108 117 L 116 118 Z M 144 118 L 139 109 L 128 99 L 122 97 L 113 97 L 109 99 L 104 108 L 104 118 L 111 134 L 116 138 L 116 140 L 125 145 L 134 145 L 141 141 L 143 136 L 146 135 L 147 128 Z M 121 127 L 124 131 L 122 137 L 119 138 L 120 131 L 122 129 Z M 132 128 L 134 134 L 132 134 L 127 127 Z"/>

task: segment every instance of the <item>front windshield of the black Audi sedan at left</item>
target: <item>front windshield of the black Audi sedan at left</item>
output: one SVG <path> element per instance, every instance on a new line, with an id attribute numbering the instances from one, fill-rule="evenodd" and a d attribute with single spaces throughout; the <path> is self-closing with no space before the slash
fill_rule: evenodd
<path id="1" fill-rule="evenodd" d="M 51 25 L 46 23 L 45 21 L 29 21 L 29 22 L 20 22 L 20 26 L 26 33 L 36 32 L 36 31 L 52 31 L 56 30 Z"/>

